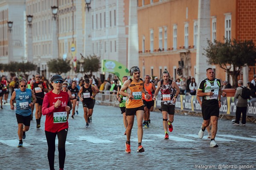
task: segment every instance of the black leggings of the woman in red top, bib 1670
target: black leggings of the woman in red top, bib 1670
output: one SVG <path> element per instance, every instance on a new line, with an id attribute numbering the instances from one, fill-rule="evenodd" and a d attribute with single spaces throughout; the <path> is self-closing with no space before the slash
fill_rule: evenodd
<path id="1" fill-rule="evenodd" d="M 54 153 L 55 153 L 55 138 L 58 135 L 58 152 L 59 152 L 59 167 L 64 168 L 66 157 L 65 142 L 67 139 L 67 129 L 63 129 L 57 133 L 45 131 L 45 136 L 48 144 L 48 161 L 50 170 L 54 170 Z"/>

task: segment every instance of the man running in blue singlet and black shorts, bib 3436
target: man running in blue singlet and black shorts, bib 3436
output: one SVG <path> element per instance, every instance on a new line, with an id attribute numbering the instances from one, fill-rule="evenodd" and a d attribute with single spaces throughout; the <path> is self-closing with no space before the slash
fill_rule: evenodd
<path id="1" fill-rule="evenodd" d="M 21 79 L 19 81 L 20 89 L 12 93 L 10 99 L 11 109 L 14 110 L 14 100 L 16 101 L 16 118 L 18 123 L 18 136 L 19 144 L 18 147 L 23 147 L 22 139 L 26 138 L 26 131 L 30 127 L 30 117 L 31 117 L 31 106 L 35 105 L 36 97 L 31 89 L 26 89 L 26 79 Z M 31 100 L 33 99 L 33 102 Z"/>

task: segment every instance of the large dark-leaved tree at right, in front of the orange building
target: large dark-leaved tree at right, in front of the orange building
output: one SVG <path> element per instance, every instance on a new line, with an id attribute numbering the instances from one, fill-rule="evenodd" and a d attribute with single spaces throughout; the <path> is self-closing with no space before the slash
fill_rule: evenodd
<path id="1" fill-rule="evenodd" d="M 208 47 L 204 49 L 208 64 L 218 65 L 232 77 L 233 88 L 238 87 L 238 79 L 243 66 L 253 66 L 256 60 L 256 47 L 253 40 L 227 40 L 213 43 L 208 40 Z"/>

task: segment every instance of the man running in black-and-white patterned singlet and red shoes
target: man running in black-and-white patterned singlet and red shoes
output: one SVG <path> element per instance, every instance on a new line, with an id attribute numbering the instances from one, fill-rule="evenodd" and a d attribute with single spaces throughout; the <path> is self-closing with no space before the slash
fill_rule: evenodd
<path id="1" fill-rule="evenodd" d="M 169 139 L 167 127 L 170 132 L 173 130 L 172 122 L 174 120 L 175 102 L 180 94 L 180 88 L 170 77 L 167 70 L 163 71 L 163 80 L 157 83 L 157 89 L 154 93 L 153 100 L 157 99 L 157 94 L 161 92 L 161 111 L 163 114 L 163 129 L 165 131 L 164 139 Z M 169 118 L 169 120 L 168 120 Z"/>

